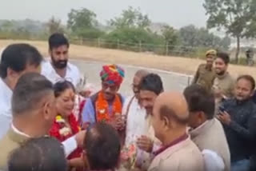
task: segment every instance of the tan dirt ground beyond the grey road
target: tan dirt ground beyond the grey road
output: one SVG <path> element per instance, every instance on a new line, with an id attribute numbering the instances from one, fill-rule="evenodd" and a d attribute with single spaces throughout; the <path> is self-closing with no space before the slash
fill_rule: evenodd
<path id="1" fill-rule="evenodd" d="M 0 50 L 11 43 L 26 42 L 34 45 L 43 55 L 47 55 L 47 42 L 0 40 Z M 194 74 L 202 60 L 192 58 L 166 57 L 146 53 L 134 53 L 123 50 L 108 50 L 88 46 L 70 46 L 70 58 L 86 61 L 110 62 L 132 66 L 144 66 L 182 74 Z M 255 67 L 230 65 L 230 73 L 237 77 L 241 74 L 256 73 Z M 256 78 L 256 77 L 254 77 Z"/>

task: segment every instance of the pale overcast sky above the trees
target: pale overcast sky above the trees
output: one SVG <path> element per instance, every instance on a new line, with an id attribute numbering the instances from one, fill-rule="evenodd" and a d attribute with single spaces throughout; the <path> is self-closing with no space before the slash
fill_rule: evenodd
<path id="1" fill-rule="evenodd" d="M 206 26 L 203 0 L 0 0 L 0 19 L 31 18 L 47 21 L 51 16 L 65 23 L 70 9 L 85 7 L 106 23 L 128 6 L 140 7 L 153 22 L 166 22 L 179 28 L 189 24 Z"/>

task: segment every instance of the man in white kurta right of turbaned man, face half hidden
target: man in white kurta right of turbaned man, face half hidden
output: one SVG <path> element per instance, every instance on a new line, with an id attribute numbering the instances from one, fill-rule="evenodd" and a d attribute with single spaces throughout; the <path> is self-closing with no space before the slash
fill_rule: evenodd
<path id="1" fill-rule="evenodd" d="M 134 75 L 133 91 L 134 96 L 127 97 L 122 108 L 122 114 L 126 116 L 126 140 L 125 146 L 136 145 L 141 136 L 149 137 L 154 141 L 154 129 L 151 125 L 150 115 L 142 107 L 139 101 L 138 85 L 141 79 L 148 74 L 146 70 L 138 70 Z M 136 165 L 143 170 L 150 165 L 150 153 L 137 149 Z"/>

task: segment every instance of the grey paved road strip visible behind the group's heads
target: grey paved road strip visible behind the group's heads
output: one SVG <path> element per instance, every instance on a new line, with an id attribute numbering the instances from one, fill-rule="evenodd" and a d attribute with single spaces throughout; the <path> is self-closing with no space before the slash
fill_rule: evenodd
<path id="1" fill-rule="evenodd" d="M 81 70 L 82 73 L 86 74 L 86 82 L 93 83 L 96 85 L 97 88 L 100 87 L 100 78 L 99 78 L 99 72 L 102 70 L 102 65 L 105 63 L 100 62 L 86 62 L 86 61 L 77 61 L 72 60 L 72 63 L 74 65 L 78 66 L 78 68 Z M 134 77 L 134 74 L 137 70 L 142 69 L 137 66 L 124 66 L 123 69 L 126 71 L 126 78 L 122 84 L 122 87 L 120 89 L 120 92 L 124 95 L 131 95 L 131 83 L 132 79 Z M 159 74 L 162 78 L 162 82 L 164 84 L 165 90 L 178 90 L 182 91 L 186 85 L 191 80 L 190 76 L 184 75 L 184 74 L 176 74 L 172 72 L 167 72 L 163 70 L 154 70 L 154 69 L 146 69 L 149 70 L 152 73 Z"/>

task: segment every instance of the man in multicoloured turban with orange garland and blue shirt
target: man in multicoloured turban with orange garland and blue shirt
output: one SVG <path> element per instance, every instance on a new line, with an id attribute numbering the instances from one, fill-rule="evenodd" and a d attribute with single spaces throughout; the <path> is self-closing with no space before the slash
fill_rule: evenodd
<path id="1" fill-rule="evenodd" d="M 102 89 L 86 101 L 82 111 L 84 127 L 101 121 L 113 125 L 115 129 L 124 129 L 125 124 L 121 115 L 124 99 L 118 93 L 124 76 L 125 72 L 120 66 L 102 66 Z"/>

